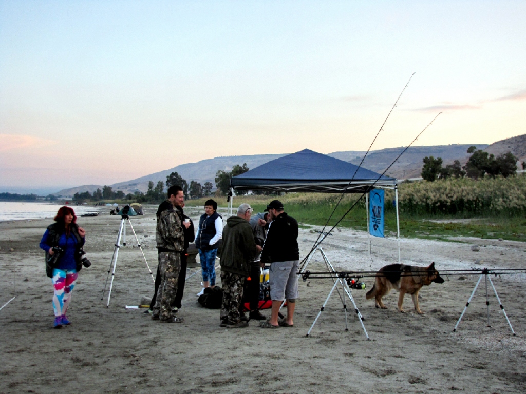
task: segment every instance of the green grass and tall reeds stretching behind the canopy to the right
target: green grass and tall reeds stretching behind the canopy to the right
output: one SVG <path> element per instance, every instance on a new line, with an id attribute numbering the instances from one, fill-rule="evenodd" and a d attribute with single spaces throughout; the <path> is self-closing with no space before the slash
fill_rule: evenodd
<path id="1" fill-rule="evenodd" d="M 346 195 L 330 225 L 359 199 Z M 279 199 L 286 211 L 298 222 L 323 225 L 334 209 L 340 195 L 324 193 L 288 193 L 285 195 L 235 196 L 234 207 L 247 202 L 255 212 Z M 392 205 L 393 192 L 386 192 L 386 237 L 396 234 L 396 211 Z M 204 206 L 206 199 L 187 201 L 187 205 Z M 216 198 L 218 206 L 226 207 L 225 197 Z M 444 179 L 436 182 L 402 183 L 399 186 L 400 234 L 421 239 L 454 241 L 457 236 L 483 239 L 526 241 L 526 177 Z M 432 220 L 432 221 L 431 221 Z M 435 221 L 454 221 L 442 223 Z M 342 227 L 367 230 L 365 198 L 343 219 Z"/>

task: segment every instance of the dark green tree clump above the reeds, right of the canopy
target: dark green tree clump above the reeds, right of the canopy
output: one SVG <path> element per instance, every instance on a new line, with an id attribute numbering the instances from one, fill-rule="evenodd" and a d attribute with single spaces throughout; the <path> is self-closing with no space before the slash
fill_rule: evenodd
<path id="1" fill-rule="evenodd" d="M 475 146 L 468 148 L 471 154 L 466 165 L 462 165 L 459 160 L 454 160 L 453 164 L 442 167 L 442 158 L 433 156 L 423 158 L 422 178 L 433 182 L 437 179 L 464 178 L 482 179 L 485 175 L 495 178 L 498 175 L 508 178 L 517 172 L 517 158 L 511 153 L 502 153 L 495 157 Z M 522 169 L 526 169 L 526 162 L 522 162 Z"/>

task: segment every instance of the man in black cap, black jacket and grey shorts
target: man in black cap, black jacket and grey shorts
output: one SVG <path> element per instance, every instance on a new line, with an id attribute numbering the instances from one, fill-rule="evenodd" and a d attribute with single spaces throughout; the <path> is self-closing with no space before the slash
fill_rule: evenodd
<path id="1" fill-rule="evenodd" d="M 262 328 L 292 327 L 294 309 L 298 298 L 298 222 L 284 212 L 278 200 L 267 205 L 268 216 L 272 220 L 267 238 L 261 252 L 261 261 L 270 263 L 270 298 L 272 314 L 268 322 L 260 322 Z M 279 308 L 287 299 L 287 317 L 278 320 Z"/>

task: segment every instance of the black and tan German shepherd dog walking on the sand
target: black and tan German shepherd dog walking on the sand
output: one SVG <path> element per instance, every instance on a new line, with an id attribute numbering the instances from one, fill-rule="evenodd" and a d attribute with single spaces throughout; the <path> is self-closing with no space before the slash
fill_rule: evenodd
<path id="1" fill-rule="evenodd" d="M 418 292 L 422 286 L 429 286 L 431 282 L 444 283 L 444 279 L 434 269 L 434 262 L 429 267 L 416 267 L 414 265 L 406 264 L 391 264 L 380 268 L 376 273 L 375 285 L 367 292 L 365 297 L 371 299 L 375 297 L 375 306 L 377 308 L 387 309 L 383 305 L 382 297 L 387 295 L 392 289 L 400 292 L 398 297 L 398 310 L 405 312 L 402 309 L 403 296 L 408 293 L 413 297 L 414 310 L 419 315 L 423 312 L 418 305 Z"/>

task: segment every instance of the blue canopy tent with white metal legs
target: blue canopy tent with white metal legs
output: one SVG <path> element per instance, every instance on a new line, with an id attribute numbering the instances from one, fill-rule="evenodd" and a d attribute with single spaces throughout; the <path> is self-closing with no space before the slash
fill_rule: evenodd
<path id="1" fill-rule="evenodd" d="M 233 190 L 310 193 L 367 193 L 372 188 L 395 190 L 398 255 L 400 261 L 400 225 L 398 223 L 398 182 L 377 172 L 304 149 L 271 160 L 244 174 L 232 177 Z M 229 214 L 232 215 L 232 198 Z M 368 211 L 368 210 L 367 210 Z M 367 220 L 369 230 L 369 220 Z"/>

